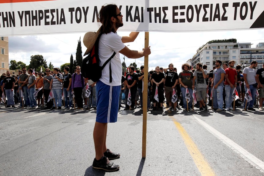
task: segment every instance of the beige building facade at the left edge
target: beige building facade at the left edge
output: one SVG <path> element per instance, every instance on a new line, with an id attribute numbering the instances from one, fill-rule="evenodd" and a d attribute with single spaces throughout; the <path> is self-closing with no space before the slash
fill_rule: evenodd
<path id="1" fill-rule="evenodd" d="M 0 37 L 0 73 L 6 73 L 9 70 L 9 56 L 8 56 L 8 37 Z"/>

